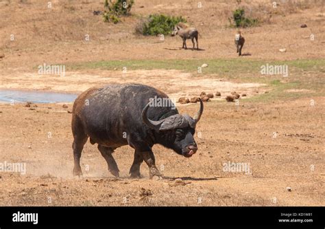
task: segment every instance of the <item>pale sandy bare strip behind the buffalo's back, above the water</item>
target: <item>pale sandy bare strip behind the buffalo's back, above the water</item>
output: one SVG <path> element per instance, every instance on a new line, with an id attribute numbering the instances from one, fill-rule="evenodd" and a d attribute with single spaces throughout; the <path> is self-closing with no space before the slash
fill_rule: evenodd
<path id="1" fill-rule="evenodd" d="M 170 98 L 177 100 L 182 96 L 200 96 L 202 91 L 215 94 L 221 92 L 221 98 L 231 91 L 247 94 L 246 98 L 256 95 L 254 92 L 260 83 L 232 83 L 210 76 L 193 76 L 178 70 L 132 70 L 91 72 L 66 72 L 65 76 L 39 75 L 34 73 L 10 74 L 0 76 L 1 88 L 34 89 L 44 91 L 65 91 L 80 93 L 96 85 L 109 83 L 142 83 L 165 91 Z M 263 89 L 259 89 L 263 92 Z M 220 98 L 220 97 L 219 97 Z"/>

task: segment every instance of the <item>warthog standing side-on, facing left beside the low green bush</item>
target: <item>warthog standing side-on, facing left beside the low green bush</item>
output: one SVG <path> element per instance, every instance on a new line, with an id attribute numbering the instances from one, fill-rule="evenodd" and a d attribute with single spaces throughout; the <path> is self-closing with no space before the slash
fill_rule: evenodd
<path id="1" fill-rule="evenodd" d="M 194 48 L 195 48 L 194 39 L 195 39 L 197 50 L 199 50 L 199 43 L 197 41 L 197 36 L 199 36 L 199 32 L 197 31 L 197 29 L 195 29 L 195 28 L 185 28 L 184 25 L 178 24 L 173 29 L 173 32 L 171 33 L 171 36 L 176 36 L 177 34 L 183 39 L 182 48 L 187 50 L 186 39 L 191 39 L 192 43 L 193 43 L 193 50 L 194 50 Z"/>

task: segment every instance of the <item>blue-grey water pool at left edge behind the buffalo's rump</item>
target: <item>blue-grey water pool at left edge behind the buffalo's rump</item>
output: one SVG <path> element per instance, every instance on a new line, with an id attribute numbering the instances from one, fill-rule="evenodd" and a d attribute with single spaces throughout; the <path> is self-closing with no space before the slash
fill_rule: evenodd
<path id="1" fill-rule="evenodd" d="M 0 102 L 73 102 L 75 98 L 77 98 L 77 95 L 75 94 L 42 91 L 18 91 L 6 89 L 0 90 Z"/>

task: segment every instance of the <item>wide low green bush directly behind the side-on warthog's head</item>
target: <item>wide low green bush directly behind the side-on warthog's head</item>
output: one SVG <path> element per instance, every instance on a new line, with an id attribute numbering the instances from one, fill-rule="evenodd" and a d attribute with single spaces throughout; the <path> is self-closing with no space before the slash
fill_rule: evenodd
<path id="1" fill-rule="evenodd" d="M 142 19 L 136 27 L 136 32 L 143 35 L 156 36 L 158 34 L 171 34 L 173 28 L 178 23 L 186 23 L 182 17 L 171 17 L 165 14 L 149 15 L 147 19 Z"/>

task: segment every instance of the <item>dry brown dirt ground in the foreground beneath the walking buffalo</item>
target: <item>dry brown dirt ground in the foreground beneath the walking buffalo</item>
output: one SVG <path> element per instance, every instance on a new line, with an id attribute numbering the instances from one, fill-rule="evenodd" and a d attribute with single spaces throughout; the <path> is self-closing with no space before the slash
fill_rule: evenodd
<path id="1" fill-rule="evenodd" d="M 27 173 L 1 173 L 0 203 L 324 206 L 324 99 L 313 99 L 315 107 L 309 105 L 309 98 L 267 106 L 243 102 L 238 108 L 233 103 L 206 103 L 195 137 L 199 151 L 193 157 L 154 146 L 156 164 L 164 175 L 158 181 L 149 179 L 145 164 L 142 179 L 128 178 L 133 160 L 129 146 L 115 151 L 121 171 L 121 178 L 115 179 L 89 142 L 82 155 L 84 178 L 75 179 L 71 114 L 67 113 L 72 105 L 67 109 L 1 105 L 0 160 L 25 162 Z M 179 109 L 193 114 L 197 105 Z M 227 162 L 250 163 L 252 174 L 224 172 Z M 178 177 L 181 183 L 175 182 Z"/>

